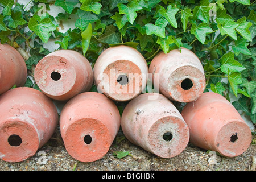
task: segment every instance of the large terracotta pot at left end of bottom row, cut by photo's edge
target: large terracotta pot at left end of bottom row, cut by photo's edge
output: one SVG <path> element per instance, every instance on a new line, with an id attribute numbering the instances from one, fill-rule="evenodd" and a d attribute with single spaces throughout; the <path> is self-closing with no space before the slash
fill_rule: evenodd
<path id="1" fill-rule="evenodd" d="M 20 162 L 51 138 L 58 122 L 55 105 L 33 88 L 11 89 L 0 96 L 0 158 Z"/>

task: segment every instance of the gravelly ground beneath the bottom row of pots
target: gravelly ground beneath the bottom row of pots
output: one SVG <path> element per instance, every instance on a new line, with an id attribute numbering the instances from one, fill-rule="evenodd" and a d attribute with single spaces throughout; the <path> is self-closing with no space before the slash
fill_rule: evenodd
<path id="1" fill-rule="evenodd" d="M 255 136 L 253 137 L 256 138 Z M 130 151 L 121 159 L 113 155 L 114 151 Z M 42 155 L 43 154 L 43 155 Z M 10 163 L 0 160 L 1 171 L 250 171 L 255 170 L 256 144 L 240 156 L 226 158 L 211 156 L 188 143 L 181 154 L 174 158 L 160 158 L 141 147 L 130 143 L 121 132 L 104 158 L 84 163 L 73 159 L 63 146 L 58 131 L 34 156 L 23 162 Z"/>

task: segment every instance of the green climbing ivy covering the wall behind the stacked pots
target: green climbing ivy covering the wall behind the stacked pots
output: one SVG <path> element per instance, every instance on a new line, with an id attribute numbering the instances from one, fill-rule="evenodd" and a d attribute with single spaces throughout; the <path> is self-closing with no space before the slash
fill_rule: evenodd
<path id="1" fill-rule="evenodd" d="M 53 6 L 60 13 L 51 14 Z M 137 48 L 148 65 L 161 50 L 185 47 L 203 64 L 205 92 L 222 94 L 256 123 L 255 7 L 250 0 L 2 0 L 0 39 L 27 55 L 31 77 L 50 40 L 81 52 L 92 67 L 119 44 Z M 71 20 L 73 28 L 61 32 Z M 26 86 L 36 87 L 31 77 Z"/>

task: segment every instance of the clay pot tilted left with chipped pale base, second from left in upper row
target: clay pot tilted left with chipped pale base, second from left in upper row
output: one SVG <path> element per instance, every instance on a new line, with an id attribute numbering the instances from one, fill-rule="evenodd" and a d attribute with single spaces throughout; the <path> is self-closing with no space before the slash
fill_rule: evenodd
<path id="1" fill-rule="evenodd" d="M 48 97 L 64 101 L 92 87 L 93 71 L 89 61 L 79 52 L 60 50 L 39 61 L 35 81 Z"/>

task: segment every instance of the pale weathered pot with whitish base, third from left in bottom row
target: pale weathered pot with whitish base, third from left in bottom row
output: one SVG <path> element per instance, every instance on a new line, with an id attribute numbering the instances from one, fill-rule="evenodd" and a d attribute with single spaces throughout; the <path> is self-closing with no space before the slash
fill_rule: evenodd
<path id="1" fill-rule="evenodd" d="M 131 143 L 162 158 L 180 154 L 189 141 L 189 129 L 176 107 L 162 94 L 141 94 L 122 113 L 123 134 Z"/>

